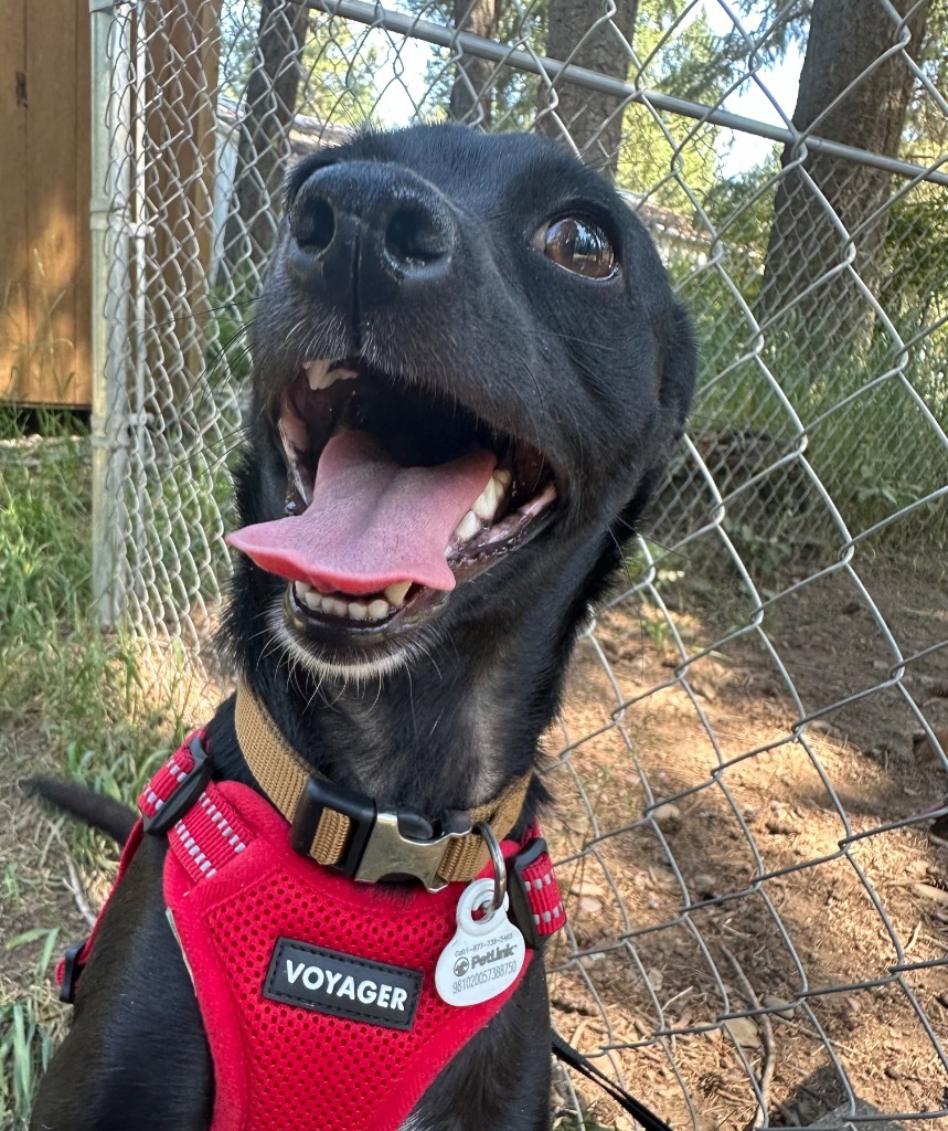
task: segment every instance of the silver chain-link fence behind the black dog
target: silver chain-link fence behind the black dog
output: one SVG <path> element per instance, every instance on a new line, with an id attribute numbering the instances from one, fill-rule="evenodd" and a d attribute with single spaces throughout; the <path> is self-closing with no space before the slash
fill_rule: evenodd
<path id="1" fill-rule="evenodd" d="M 942 0 L 93 19 L 103 616 L 195 659 L 212 625 L 294 157 L 449 114 L 560 139 L 651 228 L 702 378 L 547 743 L 556 1024 L 677 1125 L 948 1115 Z M 626 1125 L 565 1078 L 558 1106 Z"/>

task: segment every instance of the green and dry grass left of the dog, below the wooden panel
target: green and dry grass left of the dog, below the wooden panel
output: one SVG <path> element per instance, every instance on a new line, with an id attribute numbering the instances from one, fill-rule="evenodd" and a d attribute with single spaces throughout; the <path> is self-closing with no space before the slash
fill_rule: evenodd
<path id="1" fill-rule="evenodd" d="M 71 418 L 47 416 L 41 440 L 0 412 L 0 1126 L 26 1126 L 36 1081 L 66 1011 L 51 972 L 75 938 L 63 896 L 67 857 L 80 875 L 107 874 L 115 846 L 16 795 L 18 778 L 67 776 L 129 800 L 184 729 L 158 711 L 136 644 L 101 633 L 90 606 L 90 460 Z M 75 927 L 73 927 L 75 930 Z"/>

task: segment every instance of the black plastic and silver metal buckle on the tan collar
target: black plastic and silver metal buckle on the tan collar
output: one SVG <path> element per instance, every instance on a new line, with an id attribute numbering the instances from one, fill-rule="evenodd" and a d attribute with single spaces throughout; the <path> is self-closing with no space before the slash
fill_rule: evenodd
<path id="1" fill-rule="evenodd" d="M 314 840 L 327 811 L 348 820 L 345 838 L 329 866 L 362 883 L 410 875 L 428 891 L 440 891 L 447 886 L 438 874 L 445 852 L 452 841 L 471 832 L 470 817 L 450 810 L 438 836 L 408 837 L 402 828 L 421 828 L 427 822 L 409 812 L 379 809 L 365 794 L 311 777 L 299 794 L 290 829 L 290 844 L 301 856 L 319 860 Z"/>

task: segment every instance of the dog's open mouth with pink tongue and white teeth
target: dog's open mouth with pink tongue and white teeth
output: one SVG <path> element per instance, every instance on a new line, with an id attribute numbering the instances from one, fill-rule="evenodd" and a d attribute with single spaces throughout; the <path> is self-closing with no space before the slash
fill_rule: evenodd
<path id="1" fill-rule="evenodd" d="M 359 362 L 305 362 L 277 429 L 286 517 L 228 542 L 290 582 L 286 612 L 304 631 L 415 628 L 553 516 L 554 474 L 536 448 Z"/>

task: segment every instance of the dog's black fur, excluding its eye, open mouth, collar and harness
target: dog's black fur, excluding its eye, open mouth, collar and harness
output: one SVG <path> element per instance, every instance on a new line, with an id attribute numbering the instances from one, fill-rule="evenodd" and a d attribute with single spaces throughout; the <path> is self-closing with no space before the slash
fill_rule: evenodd
<path id="1" fill-rule="evenodd" d="M 337 202 L 330 222 L 327 197 Z M 393 276 L 377 244 L 400 207 L 410 214 L 406 239 L 427 258 L 419 251 L 417 271 Z M 563 216 L 607 234 L 616 278 L 582 278 L 531 245 Z M 254 409 L 238 476 L 245 524 L 284 512 L 277 405 L 312 357 L 358 357 L 397 374 L 407 396 L 442 406 L 429 433 L 456 403 L 538 449 L 556 474 L 551 524 L 459 585 L 428 623 L 367 650 L 319 632 L 295 638 L 342 665 L 408 641 L 407 661 L 385 675 L 318 675 L 294 662 L 273 632 L 286 582 L 237 563 L 221 641 L 293 745 L 337 783 L 435 819 L 484 802 L 537 763 L 576 628 L 682 430 L 694 383 L 688 319 L 644 230 L 599 176 L 537 138 L 425 127 L 365 135 L 301 162 L 289 179 L 255 321 Z M 250 780 L 233 703 L 212 720 L 210 749 L 216 775 Z M 541 801 L 533 789 L 524 820 Z M 162 914 L 165 846 L 146 841 L 79 983 L 36 1131 L 209 1125 L 207 1044 Z M 548 1090 L 548 1008 L 533 964 L 420 1100 L 417 1126 L 542 1131 Z"/>

